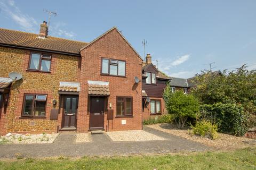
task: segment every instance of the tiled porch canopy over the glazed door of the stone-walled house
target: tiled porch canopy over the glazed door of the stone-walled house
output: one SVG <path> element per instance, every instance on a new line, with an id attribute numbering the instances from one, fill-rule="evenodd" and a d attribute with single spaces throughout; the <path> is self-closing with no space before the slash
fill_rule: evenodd
<path id="1" fill-rule="evenodd" d="M 78 95 L 80 91 L 80 83 L 60 81 L 59 94 Z"/>

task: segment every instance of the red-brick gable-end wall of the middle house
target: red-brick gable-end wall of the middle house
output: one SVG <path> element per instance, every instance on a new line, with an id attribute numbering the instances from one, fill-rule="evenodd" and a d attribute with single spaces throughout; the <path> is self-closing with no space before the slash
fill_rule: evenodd
<path id="1" fill-rule="evenodd" d="M 142 60 L 135 54 L 129 44 L 126 43 L 116 29 L 113 29 L 98 41 L 95 41 L 94 44 L 82 50 L 81 56 L 81 92 L 79 93 L 77 131 L 83 132 L 89 129 L 89 113 L 87 112 L 88 80 L 109 82 L 108 108 L 111 103 L 114 109 L 114 120 L 109 121 L 109 131 L 141 129 L 142 84 L 141 82 L 137 85 L 134 84 L 134 77 L 137 76 L 141 79 Z M 100 75 L 101 57 L 126 61 L 126 77 Z M 116 96 L 133 97 L 133 117 L 115 117 Z M 126 120 L 125 125 L 121 124 L 122 120 Z M 105 129 L 107 122 L 107 115 L 105 114 Z"/>

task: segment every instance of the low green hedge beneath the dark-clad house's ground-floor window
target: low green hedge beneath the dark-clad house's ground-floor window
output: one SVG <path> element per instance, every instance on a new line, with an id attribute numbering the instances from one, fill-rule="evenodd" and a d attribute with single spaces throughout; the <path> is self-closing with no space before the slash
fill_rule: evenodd
<path id="1" fill-rule="evenodd" d="M 172 123 L 172 122 L 173 122 L 172 115 L 155 116 L 155 117 L 150 117 L 147 120 L 143 120 L 144 125 L 157 124 L 157 123 Z"/>

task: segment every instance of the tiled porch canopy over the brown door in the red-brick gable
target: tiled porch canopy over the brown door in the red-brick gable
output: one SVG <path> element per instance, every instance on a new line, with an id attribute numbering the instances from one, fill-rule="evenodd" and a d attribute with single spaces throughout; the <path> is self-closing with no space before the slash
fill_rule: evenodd
<path id="1" fill-rule="evenodd" d="M 88 95 L 90 96 L 109 96 L 109 82 L 106 81 L 88 81 Z"/>

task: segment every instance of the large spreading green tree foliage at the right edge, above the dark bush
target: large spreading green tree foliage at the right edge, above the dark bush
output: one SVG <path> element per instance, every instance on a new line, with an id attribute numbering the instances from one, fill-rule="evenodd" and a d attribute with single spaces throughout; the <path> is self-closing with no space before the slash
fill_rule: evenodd
<path id="1" fill-rule="evenodd" d="M 242 104 L 245 111 L 256 114 L 256 70 L 247 66 L 234 71 L 223 71 L 223 75 L 202 72 L 193 80 L 192 94 L 204 104 Z"/>

